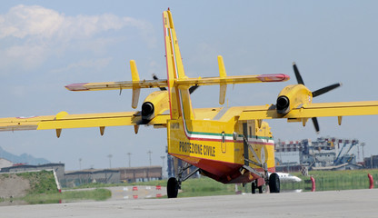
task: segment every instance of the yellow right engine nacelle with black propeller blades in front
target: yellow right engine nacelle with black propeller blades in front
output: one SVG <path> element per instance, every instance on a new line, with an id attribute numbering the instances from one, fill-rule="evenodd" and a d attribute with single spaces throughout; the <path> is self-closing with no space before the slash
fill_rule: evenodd
<path id="1" fill-rule="evenodd" d="M 287 114 L 293 108 L 303 104 L 311 104 L 313 101 L 312 92 L 303 84 L 291 84 L 284 87 L 277 98 L 277 113 Z"/>

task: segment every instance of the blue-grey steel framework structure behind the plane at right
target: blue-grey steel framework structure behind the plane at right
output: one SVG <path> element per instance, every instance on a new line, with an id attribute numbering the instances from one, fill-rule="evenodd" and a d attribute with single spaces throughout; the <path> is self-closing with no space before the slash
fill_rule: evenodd
<path id="1" fill-rule="evenodd" d="M 357 139 L 338 139 L 320 137 L 316 141 L 303 139 L 300 141 L 281 142 L 274 144 L 276 170 L 278 172 L 298 172 L 308 170 L 358 170 L 377 167 L 373 158 L 360 158 L 364 144 Z M 297 157 L 299 162 L 284 162 L 287 156 Z M 357 162 L 360 160 L 360 162 Z M 372 160 L 371 162 L 369 162 Z M 369 163 L 366 163 L 369 162 Z M 378 158 L 377 158 L 378 163 Z"/>

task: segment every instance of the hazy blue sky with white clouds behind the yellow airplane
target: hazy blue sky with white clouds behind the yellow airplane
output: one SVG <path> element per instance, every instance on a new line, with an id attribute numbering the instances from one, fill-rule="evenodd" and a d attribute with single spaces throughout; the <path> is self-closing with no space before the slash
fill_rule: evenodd
<path id="1" fill-rule="evenodd" d="M 1 117 L 133 111 L 131 92 L 69 92 L 66 84 L 131 80 L 134 59 L 141 79 L 166 78 L 162 13 L 170 7 L 189 77 L 217 76 L 216 56 L 228 75 L 289 74 L 274 84 L 229 85 L 229 106 L 274 104 L 296 84 L 295 61 L 310 90 L 343 86 L 313 102 L 378 100 L 376 1 L 5 1 L 0 7 Z M 142 90 L 139 107 L 154 90 Z M 214 107 L 219 87 L 192 94 L 194 107 Z M 268 121 L 276 140 L 321 136 L 358 139 L 364 156 L 378 154 L 378 115 L 319 118 L 313 124 Z M 31 154 L 66 170 L 162 165 L 166 130 L 133 126 L 0 133 L 0 146 Z M 108 155 L 113 157 L 109 160 Z M 166 158 L 165 158 L 166 160 Z M 166 166 L 166 163 L 164 163 Z"/>

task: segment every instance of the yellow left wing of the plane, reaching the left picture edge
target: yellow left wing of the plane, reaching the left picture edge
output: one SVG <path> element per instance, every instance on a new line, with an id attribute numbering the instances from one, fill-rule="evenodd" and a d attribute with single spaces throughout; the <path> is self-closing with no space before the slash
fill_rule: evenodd
<path id="1" fill-rule="evenodd" d="M 159 114 L 148 124 L 166 125 L 169 114 Z M 141 123 L 140 112 L 119 112 L 103 114 L 68 114 L 60 112 L 56 115 L 35 116 L 35 117 L 10 117 L 0 118 L 0 131 L 18 130 L 46 130 L 55 129 L 59 137 L 62 129 L 100 127 L 101 134 L 104 134 L 104 127 L 119 125 L 134 125 L 136 128 Z"/>

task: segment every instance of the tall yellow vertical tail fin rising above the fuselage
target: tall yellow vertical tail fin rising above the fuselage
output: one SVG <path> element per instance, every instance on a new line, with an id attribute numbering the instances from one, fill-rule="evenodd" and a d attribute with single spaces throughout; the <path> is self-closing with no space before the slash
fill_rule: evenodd
<path id="1" fill-rule="evenodd" d="M 176 83 L 177 80 L 185 79 L 187 76 L 184 73 L 180 48 L 174 31 L 174 20 L 169 10 L 163 13 L 163 24 L 171 119 L 178 119 L 180 116 L 184 119 L 194 119 L 189 94 L 190 86 L 180 85 L 178 87 Z"/>

